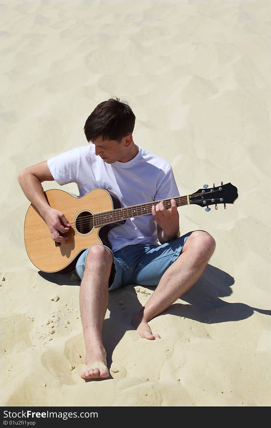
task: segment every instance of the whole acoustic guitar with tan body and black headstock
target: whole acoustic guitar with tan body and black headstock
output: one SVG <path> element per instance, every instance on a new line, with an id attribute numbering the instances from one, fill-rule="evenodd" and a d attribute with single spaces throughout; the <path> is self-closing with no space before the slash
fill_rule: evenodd
<path id="1" fill-rule="evenodd" d="M 238 198 L 237 188 L 231 183 L 219 187 L 203 189 L 191 195 L 177 196 L 174 199 L 178 207 L 182 205 L 200 205 L 210 211 L 209 205 L 233 204 Z M 94 244 L 104 244 L 111 248 L 108 233 L 113 227 L 122 225 L 128 218 L 152 214 L 152 205 L 161 201 L 122 207 L 119 199 L 105 189 L 93 189 L 78 198 L 64 190 L 46 190 L 48 204 L 63 214 L 71 223 L 65 242 L 55 242 L 43 217 L 31 204 L 24 221 L 24 243 L 27 255 L 36 268 L 44 272 L 66 273 L 75 269 L 80 254 Z M 167 209 L 170 199 L 164 200 Z"/>

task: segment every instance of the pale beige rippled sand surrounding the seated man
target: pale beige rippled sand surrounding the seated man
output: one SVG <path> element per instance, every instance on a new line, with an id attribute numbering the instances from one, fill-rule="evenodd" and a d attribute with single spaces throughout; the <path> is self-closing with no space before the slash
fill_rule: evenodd
<path id="1" fill-rule="evenodd" d="M 2 405 L 271 404 L 270 12 L 260 0 L 1 3 Z M 79 282 L 28 259 L 17 175 L 87 144 L 87 116 L 115 96 L 137 118 L 134 142 L 172 163 L 182 195 L 223 181 L 239 197 L 226 210 L 179 208 L 182 234 L 216 240 L 203 276 L 150 322 L 161 340 L 131 326 L 154 288 L 110 293 L 111 376 L 85 383 Z"/>

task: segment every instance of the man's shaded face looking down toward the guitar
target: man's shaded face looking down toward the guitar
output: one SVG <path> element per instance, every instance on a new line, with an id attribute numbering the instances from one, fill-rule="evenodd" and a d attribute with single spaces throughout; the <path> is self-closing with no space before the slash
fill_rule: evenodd
<path id="1" fill-rule="evenodd" d="M 95 145 L 95 155 L 100 156 L 104 162 L 127 162 L 127 160 L 125 160 L 125 138 L 122 139 L 121 143 L 118 143 L 116 140 L 103 141 L 102 137 L 98 137 L 93 144 Z"/>

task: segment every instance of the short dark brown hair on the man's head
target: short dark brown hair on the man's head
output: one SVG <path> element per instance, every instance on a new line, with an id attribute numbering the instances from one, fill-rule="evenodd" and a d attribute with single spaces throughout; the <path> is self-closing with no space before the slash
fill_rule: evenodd
<path id="1" fill-rule="evenodd" d="M 127 134 L 134 131 L 135 116 L 127 101 L 110 98 L 98 104 L 86 119 L 84 132 L 88 142 L 98 137 L 104 140 L 116 140 L 119 143 Z"/>

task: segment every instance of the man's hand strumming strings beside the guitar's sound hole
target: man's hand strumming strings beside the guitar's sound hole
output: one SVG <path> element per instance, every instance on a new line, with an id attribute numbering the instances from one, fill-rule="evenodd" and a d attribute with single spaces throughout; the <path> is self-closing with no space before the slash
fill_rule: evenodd
<path id="1" fill-rule="evenodd" d="M 61 236 L 60 233 L 66 233 L 70 230 L 71 224 L 66 219 L 65 215 L 54 208 L 49 208 L 43 215 L 45 222 L 51 233 L 53 241 L 67 241 L 68 236 Z"/>

